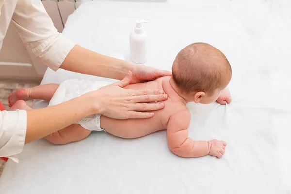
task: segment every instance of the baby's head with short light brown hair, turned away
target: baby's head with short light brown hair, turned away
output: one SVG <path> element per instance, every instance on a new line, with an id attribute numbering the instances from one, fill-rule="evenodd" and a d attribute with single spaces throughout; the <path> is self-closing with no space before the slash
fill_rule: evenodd
<path id="1" fill-rule="evenodd" d="M 172 75 L 176 92 L 185 100 L 209 104 L 226 88 L 232 70 L 220 50 L 206 43 L 193 43 L 176 56 Z"/>

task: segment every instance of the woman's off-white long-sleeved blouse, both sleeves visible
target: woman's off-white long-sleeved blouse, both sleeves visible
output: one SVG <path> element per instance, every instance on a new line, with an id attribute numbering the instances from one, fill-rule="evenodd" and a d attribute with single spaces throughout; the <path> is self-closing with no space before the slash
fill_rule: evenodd
<path id="1" fill-rule="evenodd" d="M 75 46 L 54 27 L 41 0 L 0 0 L 0 49 L 10 22 L 26 49 L 55 71 Z M 18 162 L 16 154 L 22 152 L 26 126 L 26 111 L 0 111 L 0 157 Z"/>

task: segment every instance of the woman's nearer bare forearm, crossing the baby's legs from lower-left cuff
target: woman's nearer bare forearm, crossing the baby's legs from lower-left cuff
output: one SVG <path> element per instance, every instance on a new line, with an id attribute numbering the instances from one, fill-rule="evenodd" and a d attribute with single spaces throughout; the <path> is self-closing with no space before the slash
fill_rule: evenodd
<path id="1" fill-rule="evenodd" d="M 92 97 L 87 94 L 56 106 L 28 110 L 25 143 L 42 138 L 97 113 L 97 106 L 92 104 Z"/>

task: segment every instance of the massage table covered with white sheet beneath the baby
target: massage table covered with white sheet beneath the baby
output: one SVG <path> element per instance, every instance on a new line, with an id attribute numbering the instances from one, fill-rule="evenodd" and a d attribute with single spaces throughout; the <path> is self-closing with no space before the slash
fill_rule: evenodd
<path id="1" fill-rule="evenodd" d="M 95 52 L 129 58 L 136 18 L 149 20 L 149 60 L 171 70 L 180 49 L 206 42 L 232 65 L 232 103 L 189 103 L 189 137 L 227 142 L 221 159 L 172 154 L 166 132 L 126 140 L 105 132 L 63 146 L 38 140 L 8 160 L 0 194 L 290 194 L 291 25 L 289 1 L 90 1 L 63 34 Z M 80 78 L 47 69 L 41 84 Z M 48 102 L 35 100 L 34 108 Z M 51 115 L 53 116 L 53 115 Z M 116 126 L 118 127 L 118 126 Z M 138 130 L 138 129 L 137 129 Z"/>

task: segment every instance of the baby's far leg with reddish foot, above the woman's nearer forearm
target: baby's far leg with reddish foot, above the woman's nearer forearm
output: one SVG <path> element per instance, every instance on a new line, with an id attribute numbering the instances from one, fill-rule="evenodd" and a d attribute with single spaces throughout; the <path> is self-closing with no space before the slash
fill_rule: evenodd
<path id="1" fill-rule="evenodd" d="M 53 97 L 54 93 L 58 89 L 59 84 L 45 84 L 38 85 L 33 88 L 22 88 L 12 92 L 8 96 L 9 107 L 13 106 L 14 103 L 18 100 L 33 100 L 33 99 L 41 99 L 49 101 Z"/>

